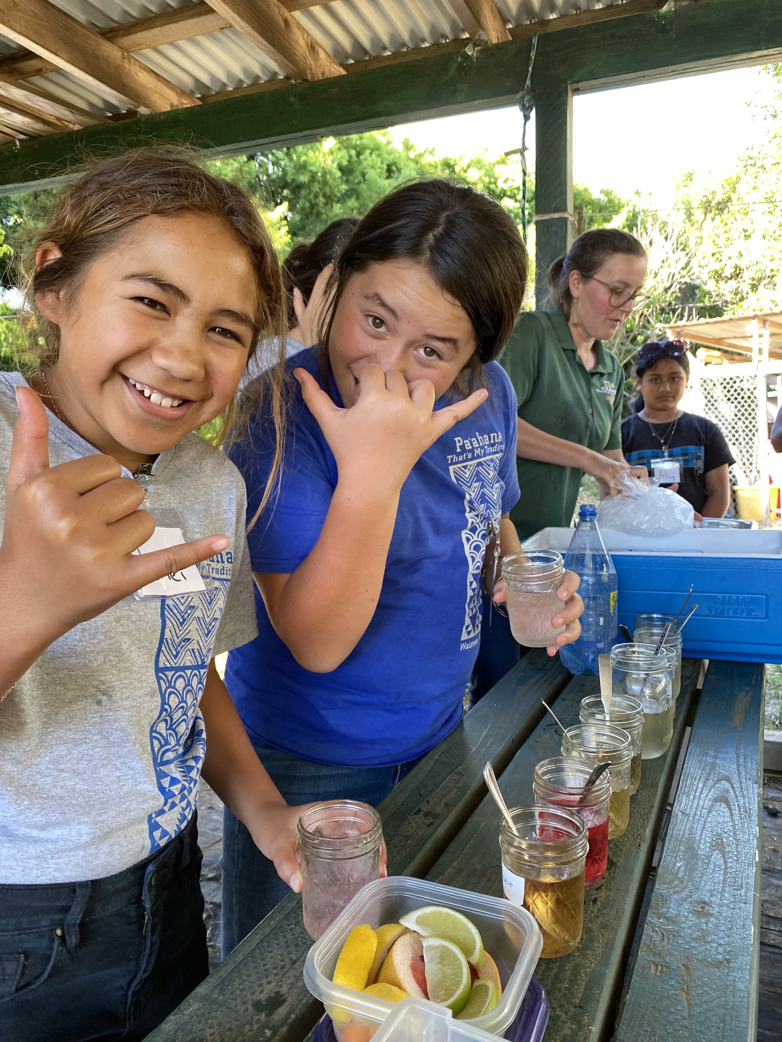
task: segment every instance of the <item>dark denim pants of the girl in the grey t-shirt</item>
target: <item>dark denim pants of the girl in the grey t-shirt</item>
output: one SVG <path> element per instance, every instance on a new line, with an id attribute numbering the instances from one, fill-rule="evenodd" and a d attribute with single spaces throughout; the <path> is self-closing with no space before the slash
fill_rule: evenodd
<path id="1" fill-rule="evenodd" d="M 209 973 L 195 816 L 88 883 L 0 886 L 0 1039 L 143 1039 Z"/>

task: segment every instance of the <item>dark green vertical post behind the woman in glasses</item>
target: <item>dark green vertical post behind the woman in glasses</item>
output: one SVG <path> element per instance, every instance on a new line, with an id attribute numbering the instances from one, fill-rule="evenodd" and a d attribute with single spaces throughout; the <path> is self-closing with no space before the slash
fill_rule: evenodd
<path id="1" fill-rule="evenodd" d="M 572 242 L 572 93 L 565 83 L 535 88 L 535 298 L 546 292 L 548 266 Z M 543 220 L 541 220 L 543 218 Z"/>

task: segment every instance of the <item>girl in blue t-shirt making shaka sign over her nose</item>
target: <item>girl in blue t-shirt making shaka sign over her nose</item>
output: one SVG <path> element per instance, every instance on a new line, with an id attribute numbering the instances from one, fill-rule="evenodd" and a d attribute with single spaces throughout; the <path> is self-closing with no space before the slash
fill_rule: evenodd
<path id="1" fill-rule="evenodd" d="M 300 389 L 273 510 L 268 416 L 231 449 L 260 632 L 225 677 L 287 799 L 376 805 L 461 719 L 494 540 L 519 549 L 516 398 L 493 359 L 527 254 L 499 205 L 432 180 L 377 203 L 334 277 L 322 342 L 287 363 Z M 580 631 L 577 587 L 568 573 L 557 647 Z M 226 811 L 223 954 L 285 896 L 273 875 Z"/>

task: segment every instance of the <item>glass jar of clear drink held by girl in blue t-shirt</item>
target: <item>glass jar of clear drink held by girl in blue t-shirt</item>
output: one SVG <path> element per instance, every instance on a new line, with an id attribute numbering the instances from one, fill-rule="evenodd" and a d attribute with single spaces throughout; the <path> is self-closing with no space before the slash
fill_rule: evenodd
<path id="1" fill-rule="evenodd" d="M 553 616 L 564 607 L 557 597 L 563 574 L 562 554 L 555 550 L 529 550 L 503 557 L 511 632 L 523 647 L 549 647 L 564 630 L 564 626 L 552 625 Z"/>

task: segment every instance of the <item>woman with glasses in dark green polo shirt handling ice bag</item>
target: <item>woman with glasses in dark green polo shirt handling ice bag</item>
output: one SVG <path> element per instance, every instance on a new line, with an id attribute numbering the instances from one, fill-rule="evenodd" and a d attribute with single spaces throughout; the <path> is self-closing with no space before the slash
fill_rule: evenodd
<path id="1" fill-rule="evenodd" d="M 579 235 L 548 270 L 548 308 L 522 312 L 500 355 L 518 397 L 516 468 L 521 496 L 510 516 L 521 540 L 540 528 L 566 528 L 584 474 L 603 495 L 630 469 L 621 454 L 625 373 L 610 341 L 637 306 L 646 253 L 627 231 Z M 519 647 L 506 619 L 484 600 L 481 648 L 470 683 L 473 701 L 511 669 Z"/>

